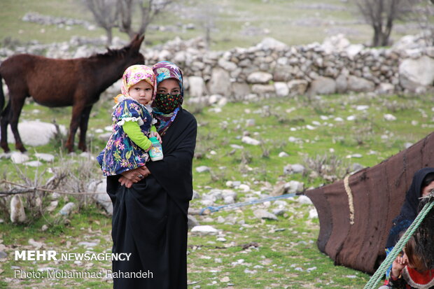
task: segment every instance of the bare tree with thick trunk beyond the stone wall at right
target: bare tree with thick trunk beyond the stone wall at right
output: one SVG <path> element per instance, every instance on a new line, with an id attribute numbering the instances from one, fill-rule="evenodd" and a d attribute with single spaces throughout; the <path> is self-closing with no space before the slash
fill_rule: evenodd
<path id="1" fill-rule="evenodd" d="M 356 0 L 365 21 L 374 29 L 372 46 L 386 46 L 395 20 L 404 20 L 417 0 Z"/>

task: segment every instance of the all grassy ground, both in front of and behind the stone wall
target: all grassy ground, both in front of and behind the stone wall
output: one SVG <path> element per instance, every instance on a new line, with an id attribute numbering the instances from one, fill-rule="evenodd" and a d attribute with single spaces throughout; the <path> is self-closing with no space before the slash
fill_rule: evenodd
<path id="1" fill-rule="evenodd" d="M 37 40 L 50 43 L 69 41 L 74 35 L 97 37 L 104 34 L 101 29 L 87 31 L 79 26 L 65 29 L 21 20 L 25 13 L 33 11 L 91 21 L 90 13 L 77 3 L 73 0 L 2 0 L 0 41 L 9 38 L 9 41 Z M 214 21 L 211 35 L 213 49 L 230 49 L 236 45 L 248 47 L 265 36 L 272 36 L 290 45 L 321 42 L 325 36 L 339 31 L 346 32 L 346 36 L 354 43 L 369 41 L 371 37 L 370 27 L 360 24 L 351 12 L 339 9 L 348 5 L 339 0 L 328 1 L 329 9 L 315 8 L 323 1 L 309 1 L 306 4 L 305 1 L 286 0 L 211 0 L 205 6 L 202 3 L 197 0 L 183 1 L 179 10 L 161 15 L 157 20 L 157 24 L 176 27 L 177 24 L 194 23 L 196 29 L 179 30 L 176 33 L 148 31 L 148 44 L 160 43 L 176 35 L 181 38 L 203 35 L 204 19 Z M 412 31 L 408 30 L 407 33 Z M 118 32 L 115 35 L 125 38 Z M 394 38 L 398 36 L 393 35 Z M 247 197 L 268 194 L 279 181 L 302 181 L 304 188 L 316 187 L 327 183 L 328 179 L 309 176 L 310 170 L 304 175 L 284 175 L 283 167 L 295 163 L 307 166 L 307 162 L 318 162 L 323 158 L 332 169 L 336 164 L 335 171 L 330 174 L 340 178 L 342 171 L 354 163 L 373 166 L 404 149 L 406 143 L 414 143 L 432 132 L 433 108 L 426 105 L 432 102 L 433 97 L 430 96 L 375 97 L 370 94 L 351 94 L 230 103 L 221 112 L 214 108 L 187 106 L 195 112 L 200 125 L 193 169 L 194 188 L 204 195 L 212 188 L 226 189 L 227 181 L 240 181 L 251 187 L 250 192 L 238 191 L 238 201 L 242 202 Z M 361 105 L 369 107 L 360 111 L 358 106 Z M 92 155 L 99 153 L 105 144 L 97 139 L 96 129 L 110 125 L 111 107 L 111 101 L 103 98 L 92 111 L 87 134 Z M 386 113 L 395 115 L 397 120 L 384 120 Z M 68 127 L 70 115 L 71 108 L 50 109 L 29 102 L 20 120 L 55 120 Z M 346 120 L 348 117 L 354 117 L 354 120 Z M 247 127 L 246 122 L 252 119 L 255 125 Z M 308 125 L 314 129 L 309 129 Z M 245 134 L 260 140 L 262 144 L 249 146 L 242 143 L 241 136 Z M 301 141 L 290 142 L 290 136 Z M 60 138 L 45 146 L 27 147 L 31 160 L 36 160 L 35 152 L 55 155 L 55 162 L 45 163 L 38 169 L 15 166 L 10 160 L 1 158 L 1 176 L 8 181 L 40 185 L 52 176 L 50 169 L 66 167 L 83 183 L 87 179 L 100 177 L 96 162 L 83 160 L 77 155 L 66 155 L 63 142 L 64 138 Z M 244 148 L 237 149 L 231 145 Z M 288 157 L 279 157 L 281 152 L 288 153 Z M 361 157 L 353 157 L 355 154 Z M 197 173 L 195 168 L 200 166 L 208 166 L 210 171 Z M 13 260 L 15 250 L 35 248 L 29 239 L 39 242 L 42 249 L 62 253 L 110 252 L 111 219 L 102 209 L 85 197 L 61 196 L 57 209 L 50 213 L 45 209 L 52 201 L 51 197 L 48 194 L 42 200 L 42 217 L 32 217 L 27 212 L 30 218 L 26 225 L 10 224 L 6 208 L 1 209 L 0 251 L 6 252 L 8 257 L 0 260 L 0 288 L 111 288 L 111 281 L 101 279 L 14 277 L 15 269 L 32 271 L 54 267 L 96 272 L 110 268 L 108 262 L 100 261 L 55 263 Z M 57 212 L 69 201 L 79 206 L 71 217 L 65 219 Z M 283 202 L 287 204 L 286 213 L 274 221 L 258 220 L 253 217 L 253 211 L 258 208 L 273 209 L 275 203 L 197 216 L 202 225 L 213 225 L 221 230 L 219 237 L 224 237 L 226 241 L 218 241 L 216 236 L 201 237 L 189 233 L 190 287 L 362 288 L 369 279 L 368 275 L 334 266 L 332 260 L 316 248 L 318 220 L 308 218 L 313 206 L 293 200 Z M 195 199 L 191 207 L 202 209 L 203 205 L 200 199 Z M 45 232 L 41 230 L 43 225 L 48 227 Z M 97 245 L 86 248 L 78 244 L 80 241 L 91 241 Z"/>

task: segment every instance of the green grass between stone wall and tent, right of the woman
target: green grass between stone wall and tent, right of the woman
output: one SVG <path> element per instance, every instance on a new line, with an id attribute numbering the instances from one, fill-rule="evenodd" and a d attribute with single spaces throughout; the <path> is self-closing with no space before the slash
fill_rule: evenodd
<path id="1" fill-rule="evenodd" d="M 260 113 L 245 113 L 244 109 L 249 108 L 251 112 L 258 111 L 262 108 L 264 103 L 262 101 L 254 104 L 228 104 L 223 108 L 224 111 L 234 111 L 237 113 L 223 113 L 218 114 L 209 112 L 207 109 L 201 115 L 198 115 L 199 120 L 206 120 L 207 124 L 202 125 L 200 121 L 200 136 L 198 139 L 198 150 L 203 152 L 206 157 L 200 160 L 200 165 L 212 166 L 216 170 L 216 162 L 218 167 L 225 167 L 221 170 L 225 178 L 229 180 L 239 180 L 242 174 L 239 173 L 239 164 L 241 159 L 248 154 L 251 160 L 248 160 L 248 166 L 252 167 L 252 171 L 246 171 L 246 176 L 241 180 L 248 180 L 258 176 L 258 171 L 266 171 L 267 178 L 263 181 L 270 181 L 271 183 L 281 176 L 282 169 L 285 164 L 296 163 L 302 160 L 300 153 L 309 155 L 324 155 L 329 153 L 330 148 L 335 150 L 335 155 L 344 160 L 348 155 L 360 153 L 363 155 L 360 159 L 351 159 L 351 162 L 358 162 L 365 167 L 371 167 L 374 164 L 381 162 L 381 160 L 390 157 L 391 155 L 402 150 L 406 142 L 416 141 L 422 138 L 431 131 L 430 127 L 422 128 L 419 125 L 411 125 L 411 121 L 421 116 L 419 112 L 413 111 L 417 109 L 414 107 L 412 110 L 402 110 L 393 113 L 398 118 L 398 121 L 388 122 L 384 120 L 383 115 L 390 113 L 388 111 L 378 111 L 384 97 L 377 97 L 377 99 L 369 99 L 360 95 L 353 97 L 352 101 L 347 101 L 348 104 L 342 105 L 342 100 L 347 97 L 344 96 L 328 96 L 322 97 L 321 100 L 330 106 L 329 110 L 333 111 L 333 117 L 340 117 L 344 122 L 335 122 L 328 120 L 327 122 L 334 125 L 328 127 L 322 125 L 314 130 L 302 129 L 305 125 L 311 125 L 312 121 L 324 123 L 324 120 L 319 118 L 314 108 L 306 104 L 305 101 L 288 100 L 288 99 L 275 99 L 272 105 L 269 105 L 269 110 L 272 113 L 268 118 L 263 118 Z M 412 103 L 413 99 L 403 99 L 400 97 L 387 97 L 387 101 L 400 100 L 403 103 Z M 376 104 L 378 101 L 379 104 Z M 370 108 L 367 112 L 356 111 L 353 106 L 369 104 Z M 408 104 L 408 106 L 410 106 Z M 286 110 L 295 107 L 295 111 L 286 113 Z M 422 107 L 420 107 L 423 109 Z M 325 115 L 329 115 L 327 112 Z M 355 115 L 356 120 L 345 120 L 349 115 Z M 244 127 L 246 119 L 255 119 L 254 127 Z M 278 118 L 281 118 L 279 122 Z M 303 119 L 304 122 L 296 123 L 295 125 L 290 121 L 290 118 Z M 221 129 L 221 123 L 228 122 L 224 129 Z M 235 121 L 235 122 L 234 122 Z M 212 125 L 216 123 L 216 125 Z M 419 120 L 419 123 L 426 123 L 426 120 Z M 428 120 L 428 124 L 432 120 Z M 427 124 L 427 123 L 426 123 Z M 241 128 L 238 126 L 241 125 Z M 297 129 L 295 132 L 291 128 Z M 241 143 L 240 136 L 248 132 L 253 138 L 262 140 L 262 148 L 259 146 L 250 147 Z M 345 133 L 344 133 L 345 132 Z M 386 132 L 393 133 L 393 137 L 386 140 L 381 140 L 382 134 Z M 258 133 L 258 136 L 255 134 Z M 232 137 L 230 137 L 232 134 Z M 235 136 L 235 137 L 234 137 Z M 294 136 L 305 140 L 301 145 L 288 142 L 288 136 Z M 232 148 L 230 144 L 237 144 L 244 146 L 246 150 L 235 150 L 231 155 Z M 216 155 L 210 155 L 209 152 L 214 150 Z M 267 150 L 269 155 L 263 156 L 264 151 Z M 368 155 L 370 150 L 374 150 L 377 154 Z M 278 157 L 281 151 L 285 151 L 290 155 L 288 159 Z M 199 165 L 198 162 L 196 164 Z M 213 165 L 214 164 L 214 165 Z M 286 176 L 286 178 L 300 178 L 298 176 Z M 211 175 L 204 174 L 196 178 L 196 183 L 209 183 L 211 182 Z"/>

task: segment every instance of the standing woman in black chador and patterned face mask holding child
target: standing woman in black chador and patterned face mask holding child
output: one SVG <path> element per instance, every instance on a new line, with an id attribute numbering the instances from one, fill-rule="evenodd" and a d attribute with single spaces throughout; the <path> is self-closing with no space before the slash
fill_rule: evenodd
<path id="1" fill-rule="evenodd" d="M 129 261 L 113 260 L 114 288 L 187 288 L 187 212 L 197 122 L 181 106 L 179 67 L 158 62 L 153 71 L 158 85 L 153 112 L 164 158 L 107 178 L 113 253 L 131 253 Z"/>

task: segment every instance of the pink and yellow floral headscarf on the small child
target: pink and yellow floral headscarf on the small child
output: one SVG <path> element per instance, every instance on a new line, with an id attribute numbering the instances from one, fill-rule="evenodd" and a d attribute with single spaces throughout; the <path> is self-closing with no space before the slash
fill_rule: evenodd
<path id="1" fill-rule="evenodd" d="M 153 94 L 151 101 L 154 101 L 155 95 L 157 94 L 157 78 L 155 77 L 155 73 L 151 67 L 137 64 L 125 69 L 122 76 L 122 84 L 120 85 L 120 92 L 122 92 L 122 94 L 118 94 L 118 96 L 115 97 L 115 102 L 118 103 L 119 97 L 130 97 L 130 93 L 128 92 L 130 87 L 136 85 L 141 80 L 145 80 L 147 83 L 152 85 Z"/>

